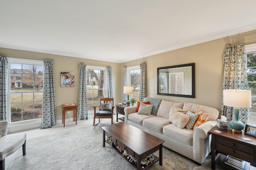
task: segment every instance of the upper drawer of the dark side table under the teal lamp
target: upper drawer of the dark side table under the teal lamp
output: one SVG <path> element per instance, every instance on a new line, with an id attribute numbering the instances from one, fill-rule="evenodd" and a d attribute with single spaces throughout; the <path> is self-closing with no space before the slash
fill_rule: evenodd
<path id="1" fill-rule="evenodd" d="M 241 152 L 246 152 L 248 154 L 253 155 L 254 154 L 254 147 L 250 147 L 248 145 L 243 145 L 241 143 L 231 141 L 228 139 L 224 139 L 222 137 L 217 137 L 218 144 L 217 145 L 224 145 L 226 147 L 229 147 L 230 149 L 240 150 Z"/>

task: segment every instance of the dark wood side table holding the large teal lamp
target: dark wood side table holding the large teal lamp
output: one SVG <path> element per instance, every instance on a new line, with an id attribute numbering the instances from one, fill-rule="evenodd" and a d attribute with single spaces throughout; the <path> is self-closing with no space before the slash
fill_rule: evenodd
<path id="1" fill-rule="evenodd" d="M 217 133 L 214 130 L 221 131 L 221 133 Z M 215 170 L 215 164 L 231 170 L 236 169 L 224 164 L 226 155 L 250 162 L 250 170 L 256 169 L 254 167 L 256 165 L 256 137 L 245 133 L 232 132 L 229 128 L 219 129 L 217 126 L 213 127 L 209 133 L 212 134 L 212 170 Z M 252 141 L 245 141 L 242 137 L 249 138 Z"/>

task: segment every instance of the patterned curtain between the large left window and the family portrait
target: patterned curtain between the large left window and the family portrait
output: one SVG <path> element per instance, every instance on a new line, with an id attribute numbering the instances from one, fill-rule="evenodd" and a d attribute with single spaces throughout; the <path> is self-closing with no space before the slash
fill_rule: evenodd
<path id="1" fill-rule="evenodd" d="M 46 129 L 57 124 L 53 64 L 54 61 L 44 61 L 41 129 Z"/>

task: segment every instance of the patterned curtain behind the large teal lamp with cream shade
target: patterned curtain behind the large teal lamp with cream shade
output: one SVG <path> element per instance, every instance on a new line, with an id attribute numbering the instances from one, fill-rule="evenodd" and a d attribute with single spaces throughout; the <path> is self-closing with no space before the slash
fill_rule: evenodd
<path id="1" fill-rule="evenodd" d="M 223 63 L 223 85 L 222 89 L 239 89 L 247 90 L 247 77 L 246 77 L 246 58 L 244 55 L 244 44 L 226 45 L 226 49 L 222 56 Z M 230 121 L 234 118 L 233 107 L 223 105 L 223 92 L 222 92 L 222 115 L 226 116 Z M 247 123 L 247 108 L 240 108 L 240 121 Z"/>

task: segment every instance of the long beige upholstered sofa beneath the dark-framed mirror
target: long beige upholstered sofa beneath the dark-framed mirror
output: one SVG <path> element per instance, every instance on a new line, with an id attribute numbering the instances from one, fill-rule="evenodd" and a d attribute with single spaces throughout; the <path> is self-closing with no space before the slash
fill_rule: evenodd
<path id="1" fill-rule="evenodd" d="M 208 131 L 217 124 L 219 111 L 199 104 L 183 104 L 156 98 L 145 98 L 144 101 L 150 101 L 150 104 L 153 104 L 151 115 L 136 113 L 137 106 L 125 107 L 124 121 L 163 139 L 165 147 L 194 160 L 196 164 L 202 164 L 210 153 L 211 135 Z M 194 130 L 180 129 L 168 120 L 171 107 L 190 110 L 192 113 L 200 109 L 210 113 L 210 116 L 204 124 Z"/>

